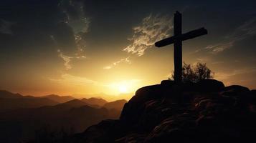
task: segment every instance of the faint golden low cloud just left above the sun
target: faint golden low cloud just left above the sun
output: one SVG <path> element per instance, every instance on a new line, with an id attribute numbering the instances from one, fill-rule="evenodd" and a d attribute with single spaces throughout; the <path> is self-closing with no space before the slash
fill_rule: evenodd
<path id="1" fill-rule="evenodd" d="M 76 77 L 72 76 L 70 74 L 62 74 L 60 79 L 49 79 L 52 82 L 57 82 L 60 84 L 72 84 L 72 85 L 87 85 L 87 84 L 97 84 L 98 82 L 95 82 L 91 79 L 87 79 L 86 77 Z"/>

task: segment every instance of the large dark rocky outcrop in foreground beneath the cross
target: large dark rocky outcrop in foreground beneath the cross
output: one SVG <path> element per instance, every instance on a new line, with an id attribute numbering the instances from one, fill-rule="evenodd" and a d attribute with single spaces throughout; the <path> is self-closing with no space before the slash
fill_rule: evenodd
<path id="1" fill-rule="evenodd" d="M 105 120 L 67 142 L 245 142 L 256 135 L 256 92 L 204 80 L 138 89 L 119 120 Z"/>

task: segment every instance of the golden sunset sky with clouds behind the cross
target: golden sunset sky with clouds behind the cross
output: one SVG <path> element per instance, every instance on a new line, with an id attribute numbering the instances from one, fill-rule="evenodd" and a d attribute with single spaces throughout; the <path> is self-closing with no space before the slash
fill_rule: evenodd
<path id="1" fill-rule="evenodd" d="M 0 89 L 44 94 L 133 93 L 168 79 L 173 14 L 187 64 L 205 62 L 225 85 L 256 89 L 256 2 L 152 0 L 1 0 Z M 86 96 L 85 96 L 86 97 Z"/>

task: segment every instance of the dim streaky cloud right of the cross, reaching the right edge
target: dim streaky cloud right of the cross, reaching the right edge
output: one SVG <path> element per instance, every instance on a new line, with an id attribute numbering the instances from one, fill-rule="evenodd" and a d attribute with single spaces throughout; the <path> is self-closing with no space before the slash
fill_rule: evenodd
<path id="1" fill-rule="evenodd" d="M 234 29 L 234 31 L 231 34 L 224 36 L 224 41 L 218 44 L 209 45 L 204 49 L 207 51 L 210 51 L 210 53 L 212 54 L 217 54 L 221 51 L 225 51 L 231 48 L 232 46 L 234 46 L 235 42 L 241 41 L 255 34 L 256 34 L 256 17 L 248 21 L 245 21 L 245 23 L 243 23 L 240 26 L 237 26 L 237 28 Z M 196 52 L 201 50 L 202 49 L 198 49 L 196 50 Z"/>

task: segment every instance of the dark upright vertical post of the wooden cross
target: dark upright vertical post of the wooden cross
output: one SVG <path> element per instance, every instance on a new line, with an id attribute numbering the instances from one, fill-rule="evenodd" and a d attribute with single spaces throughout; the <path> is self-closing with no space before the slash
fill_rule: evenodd
<path id="1" fill-rule="evenodd" d="M 176 11 L 174 14 L 174 36 L 181 35 L 182 19 L 181 13 Z M 174 81 L 182 81 L 182 39 L 174 41 Z"/>

